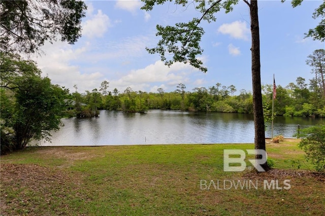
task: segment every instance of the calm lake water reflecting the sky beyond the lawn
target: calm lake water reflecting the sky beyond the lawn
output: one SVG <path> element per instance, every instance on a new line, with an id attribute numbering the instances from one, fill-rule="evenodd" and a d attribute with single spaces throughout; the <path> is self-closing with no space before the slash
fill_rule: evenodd
<path id="1" fill-rule="evenodd" d="M 274 136 L 293 137 L 301 128 L 325 119 L 276 117 Z M 149 110 L 145 114 L 101 111 L 91 119 L 63 119 L 52 142 L 40 146 L 150 145 L 171 143 L 253 143 L 253 116 L 232 113 L 191 113 Z M 271 125 L 266 131 L 271 137 Z"/>

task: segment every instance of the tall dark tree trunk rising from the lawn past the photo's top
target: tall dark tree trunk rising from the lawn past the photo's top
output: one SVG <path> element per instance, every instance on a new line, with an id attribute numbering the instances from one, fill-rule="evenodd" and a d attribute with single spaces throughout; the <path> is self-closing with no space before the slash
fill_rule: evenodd
<path id="1" fill-rule="evenodd" d="M 250 30 L 252 36 L 252 85 L 253 85 L 253 114 L 255 128 L 255 149 L 266 150 L 265 146 L 265 127 L 262 103 L 261 87 L 261 60 L 259 52 L 259 25 L 258 25 L 258 8 L 257 0 L 251 0 L 250 10 Z M 256 159 L 266 158 L 266 155 L 256 155 Z M 261 164 L 265 171 L 269 170 L 267 163 Z"/>

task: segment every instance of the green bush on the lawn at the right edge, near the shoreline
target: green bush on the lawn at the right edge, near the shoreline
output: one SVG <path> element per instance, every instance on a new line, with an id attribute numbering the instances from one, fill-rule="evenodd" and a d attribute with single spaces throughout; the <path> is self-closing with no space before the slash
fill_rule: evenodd
<path id="1" fill-rule="evenodd" d="M 314 168 L 325 172 L 325 125 L 316 125 L 301 130 L 299 147 L 306 153 Z"/>

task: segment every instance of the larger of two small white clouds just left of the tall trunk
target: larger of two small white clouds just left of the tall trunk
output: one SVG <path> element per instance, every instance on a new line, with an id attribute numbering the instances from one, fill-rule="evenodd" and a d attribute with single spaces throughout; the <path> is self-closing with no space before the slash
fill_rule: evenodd
<path id="1" fill-rule="evenodd" d="M 222 24 L 218 28 L 218 32 L 222 34 L 230 34 L 232 38 L 248 40 L 247 34 L 249 34 L 250 30 L 246 26 L 246 22 L 235 21 L 232 23 Z"/>

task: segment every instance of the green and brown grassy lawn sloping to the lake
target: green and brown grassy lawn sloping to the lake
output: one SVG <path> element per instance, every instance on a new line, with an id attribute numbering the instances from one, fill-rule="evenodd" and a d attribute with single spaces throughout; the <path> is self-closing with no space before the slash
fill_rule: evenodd
<path id="1" fill-rule="evenodd" d="M 27 148 L 1 156 L 1 215 L 323 215 L 325 176 L 291 166 L 297 143 L 268 144 L 267 173 L 223 171 L 224 149 L 252 144 Z"/>

